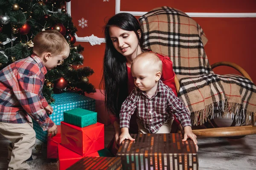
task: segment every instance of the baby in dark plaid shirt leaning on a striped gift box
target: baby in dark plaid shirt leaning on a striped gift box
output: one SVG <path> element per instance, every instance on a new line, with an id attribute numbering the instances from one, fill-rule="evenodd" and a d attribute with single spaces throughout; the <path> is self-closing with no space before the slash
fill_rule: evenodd
<path id="1" fill-rule="evenodd" d="M 137 108 L 139 133 L 170 133 L 173 114 L 184 128 L 184 139 L 189 137 L 197 144 L 192 133 L 190 113 L 172 89 L 160 80 L 162 61 L 152 52 L 138 55 L 132 62 L 131 73 L 136 87 L 122 103 L 120 111 L 119 144 L 131 138 L 128 128 L 131 115 Z"/>

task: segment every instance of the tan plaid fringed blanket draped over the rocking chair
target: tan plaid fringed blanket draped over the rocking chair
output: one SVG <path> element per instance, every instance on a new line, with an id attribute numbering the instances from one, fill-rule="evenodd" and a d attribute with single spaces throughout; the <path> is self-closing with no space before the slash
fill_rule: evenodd
<path id="1" fill-rule="evenodd" d="M 180 82 L 178 96 L 190 111 L 193 125 L 202 125 L 214 116 L 251 124 L 251 115 L 256 112 L 256 86 L 239 75 L 214 74 L 204 51 L 207 38 L 195 20 L 163 6 L 139 21 L 143 48 L 171 58 Z"/>

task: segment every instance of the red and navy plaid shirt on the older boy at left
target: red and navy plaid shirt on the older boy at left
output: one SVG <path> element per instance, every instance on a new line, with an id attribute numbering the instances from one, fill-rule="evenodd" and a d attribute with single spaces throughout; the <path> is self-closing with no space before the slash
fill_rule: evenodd
<path id="1" fill-rule="evenodd" d="M 34 54 L 0 71 L 0 122 L 26 123 L 29 115 L 43 130 L 54 125 L 44 110 L 48 106 L 42 94 L 46 73 L 42 60 Z"/>

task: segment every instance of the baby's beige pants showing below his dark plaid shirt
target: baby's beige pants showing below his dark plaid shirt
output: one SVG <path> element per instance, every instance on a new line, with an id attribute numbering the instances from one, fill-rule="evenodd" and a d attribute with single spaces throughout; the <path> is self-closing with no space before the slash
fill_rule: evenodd
<path id="1" fill-rule="evenodd" d="M 160 129 L 156 133 L 171 133 L 173 120 L 174 118 L 172 117 L 172 119 L 164 122 L 163 125 L 160 127 Z M 146 130 L 143 124 L 141 123 L 140 119 L 137 119 L 137 124 L 139 128 L 139 133 L 144 133 L 144 134 L 149 133 L 149 131 Z"/>

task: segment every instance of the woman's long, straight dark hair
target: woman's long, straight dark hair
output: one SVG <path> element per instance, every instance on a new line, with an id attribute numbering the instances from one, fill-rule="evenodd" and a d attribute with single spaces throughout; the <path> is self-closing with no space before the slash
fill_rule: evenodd
<path id="1" fill-rule="evenodd" d="M 143 43 L 143 34 L 139 21 L 129 13 L 119 13 L 108 20 L 105 26 L 105 56 L 103 63 L 103 76 L 100 85 L 105 89 L 105 106 L 109 113 L 115 114 L 119 118 L 122 102 L 128 96 L 128 76 L 126 68 L 126 58 L 120 54 L 113 46 L 109 34 L 111 26 L 118 26 L 126 31 L 134 31 L 137 35 L 140 47 Z M 141 38 L 138 34 L 141 32 Z"/>

